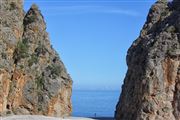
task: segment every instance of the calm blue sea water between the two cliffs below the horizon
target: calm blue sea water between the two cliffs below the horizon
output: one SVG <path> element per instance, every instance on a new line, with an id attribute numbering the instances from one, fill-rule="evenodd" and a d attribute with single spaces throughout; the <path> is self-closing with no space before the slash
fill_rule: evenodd
<path id="1" fill-rule="evenodd" d="M 119 95 L 119 91 L 75 90 L 72 95 L 72 115 L 78 117 L 113 117 Z"/>

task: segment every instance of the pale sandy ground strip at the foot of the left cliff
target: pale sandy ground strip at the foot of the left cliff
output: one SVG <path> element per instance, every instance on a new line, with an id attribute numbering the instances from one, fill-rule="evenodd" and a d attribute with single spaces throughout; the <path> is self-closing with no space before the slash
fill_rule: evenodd
<path id="1" fill-rule="evenodd" d="M 55 118 L 55 117 L 45 117 L 38 115 L 16 115 L 9 117 L 0 117 L 0 120 L 95 120 L 95 119 L 82 118 L 82 117 Z"/>

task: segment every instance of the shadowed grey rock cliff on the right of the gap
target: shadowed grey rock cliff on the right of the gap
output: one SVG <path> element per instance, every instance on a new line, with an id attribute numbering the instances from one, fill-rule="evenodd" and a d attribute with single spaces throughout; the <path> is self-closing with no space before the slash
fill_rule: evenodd
<path id="1" fill-rule="evenodd" d="M 180 120 L 179 3 L 157 1 L 129 48 L 117 120 Z"/>

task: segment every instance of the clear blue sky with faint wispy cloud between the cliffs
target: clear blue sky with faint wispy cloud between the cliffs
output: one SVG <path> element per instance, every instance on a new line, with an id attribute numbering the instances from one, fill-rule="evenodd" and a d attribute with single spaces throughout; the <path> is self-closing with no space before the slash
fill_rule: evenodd
<path id="1" fill-rule="evenodd" d="M 25 0 L 36 3 L 73 89 L 120 90 L 126 53 L 155 0 Z"/>

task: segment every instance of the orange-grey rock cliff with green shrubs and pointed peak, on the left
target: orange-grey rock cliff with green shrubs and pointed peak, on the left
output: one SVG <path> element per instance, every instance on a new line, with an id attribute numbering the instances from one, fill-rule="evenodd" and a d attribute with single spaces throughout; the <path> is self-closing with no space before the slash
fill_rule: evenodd
<path id="1" fill-rule="evenodd" d="M 0 115 L 70 115 L 72 80 L 38 7 L 0 0 L 0 41 Z"/>

